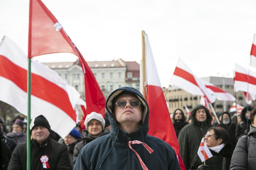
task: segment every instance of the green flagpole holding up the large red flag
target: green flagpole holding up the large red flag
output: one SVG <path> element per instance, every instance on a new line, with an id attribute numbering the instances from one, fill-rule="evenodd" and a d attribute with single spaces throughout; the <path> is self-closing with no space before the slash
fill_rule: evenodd
<path id="1" fill-rule="evenodd" d="M 30 170 L 31 58 L 28 58 L 27 170 Z"/>

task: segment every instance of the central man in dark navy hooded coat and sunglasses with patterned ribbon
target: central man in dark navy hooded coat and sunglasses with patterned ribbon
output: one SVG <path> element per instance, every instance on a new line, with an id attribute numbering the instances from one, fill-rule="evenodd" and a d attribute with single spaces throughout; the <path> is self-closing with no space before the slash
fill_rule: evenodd
<path id="1" fill-rule="evenodd" d="M 116 89 L 109 95 L 105 107 L 110 134 L 85 145 L 74 170 L 180 169 L 172 147 L 147 135 L 149 108 L 137 89 Z"/>

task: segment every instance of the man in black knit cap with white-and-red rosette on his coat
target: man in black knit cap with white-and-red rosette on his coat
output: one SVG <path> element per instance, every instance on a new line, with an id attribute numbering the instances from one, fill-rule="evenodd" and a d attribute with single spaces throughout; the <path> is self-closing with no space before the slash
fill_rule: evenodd
<path id="1" fill-rule="evenodd" d="M 51 127 L 42 115 L 31 121 L 31 169 L 71 170 L 67 148 L 50 138 Z M 26 170 L 27 143 L 20 143 L 12 153 L 8 170 Z"/>

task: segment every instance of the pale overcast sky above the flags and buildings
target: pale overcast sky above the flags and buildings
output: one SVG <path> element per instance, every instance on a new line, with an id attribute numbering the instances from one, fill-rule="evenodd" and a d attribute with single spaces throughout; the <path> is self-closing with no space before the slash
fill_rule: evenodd
<path id="1" fill-rule="evenodd" d="M 256 33 L 255 0 L 42 0 L 86 61 L 141 60 L 141 30 L 148 34 L 162 86 L 178 58 L 197 77 L 233 76 L 248 67 Z M 0 37 L 27 53 L 29 0 L 0 0 Z M 73 54 L 36 57 L 74 61 Z"/>

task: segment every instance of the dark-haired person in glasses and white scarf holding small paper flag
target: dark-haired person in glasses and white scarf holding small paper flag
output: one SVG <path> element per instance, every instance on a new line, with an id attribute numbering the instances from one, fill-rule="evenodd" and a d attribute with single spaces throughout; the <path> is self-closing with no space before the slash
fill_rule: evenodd
<path id="1" fill-rule="evenodd" d="M 232 148 L 228 143 L 228 131 L 221 127 L 212 127 L 203 137 L 213 157 L 207 159 L 204 165 L 198 155 L 195 155 L 190 170 L 228 170 L 232 157 Z M 199 144 L 200 142 L 197 146 Z"/>

